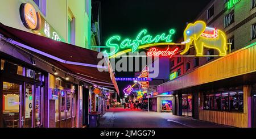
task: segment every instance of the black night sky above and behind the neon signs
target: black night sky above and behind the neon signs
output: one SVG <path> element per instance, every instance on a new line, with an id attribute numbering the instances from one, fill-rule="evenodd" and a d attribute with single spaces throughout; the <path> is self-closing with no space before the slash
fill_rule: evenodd
<path id="1" fill-rule="evenodd" d="M 134 39 L 146 28 L 152 36 L 175 28 L 176 41 L 187 22 L 193 22 L 210 0 L 102 0 L 102 44 L 113 35 Z M 133 73 L 115 73 L 116 77 L 134 77 Z M 129 82 L 118 82 L 120 94 Z"/>

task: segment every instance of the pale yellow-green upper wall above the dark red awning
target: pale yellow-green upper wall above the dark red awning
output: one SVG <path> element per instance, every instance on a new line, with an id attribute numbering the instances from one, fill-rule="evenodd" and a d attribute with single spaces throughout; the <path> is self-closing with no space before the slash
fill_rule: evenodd
<path id="1" fill-rule="evenodd" d="M 36 11 L 40 11 L 32 0 L 6 0 L 0 5 L 0 22 L 6 26 L 33 33 L 23 26 L 19 15 L 20 5 L 26 2 L 34 5 Z M 88 38 L 90 38 L 90 19 L 85 12 L 85 7 L 84 0 L 46 0 L 46 16 L 44 18 L 67 42 L 68 9 L 70 9 L 76 18 L 75 44 L 79 47 L 89 48 L 89 44 L 85 40 L 89 40 Z"/>

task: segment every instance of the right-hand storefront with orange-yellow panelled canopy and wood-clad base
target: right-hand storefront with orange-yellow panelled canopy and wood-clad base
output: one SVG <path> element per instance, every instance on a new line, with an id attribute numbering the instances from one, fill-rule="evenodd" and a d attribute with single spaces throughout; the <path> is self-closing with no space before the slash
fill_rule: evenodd
<path id="1" fill-rule="evenodd" d="M 174 91 L 174 115 L 232 127 L 255 126 L 256 44 L 158 86 Z"/>

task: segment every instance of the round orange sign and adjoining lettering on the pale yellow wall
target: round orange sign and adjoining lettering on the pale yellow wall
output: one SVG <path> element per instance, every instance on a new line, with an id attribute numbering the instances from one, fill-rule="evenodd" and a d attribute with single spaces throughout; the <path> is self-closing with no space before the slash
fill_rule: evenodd
<path id="1" fill-rule="evenodd" d="M 20 5 L 20 19 L 26 28 L 31 29 L 37 35 L 57 41 L 64 41 L 46 19 L 39 12 L 36 12 L 34 6 L 30 3 L 22 3 Z"/>

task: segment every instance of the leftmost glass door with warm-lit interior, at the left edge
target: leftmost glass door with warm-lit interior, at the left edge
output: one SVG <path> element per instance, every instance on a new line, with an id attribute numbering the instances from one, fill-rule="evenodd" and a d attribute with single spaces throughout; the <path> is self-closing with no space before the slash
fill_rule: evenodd
<path id="1" fill-rule="evenodd" d="M 20 100 L 22 99 L 22 85 L 3 82 L 3 127 L 19 128 L 22 115 Z"/>

